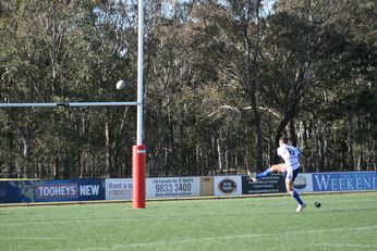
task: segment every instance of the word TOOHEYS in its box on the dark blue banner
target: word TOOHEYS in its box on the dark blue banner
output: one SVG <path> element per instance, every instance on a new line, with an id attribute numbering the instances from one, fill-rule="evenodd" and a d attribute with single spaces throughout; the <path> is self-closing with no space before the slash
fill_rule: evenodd
<path id="1" fill-rule="evenodd" d="M 77 198 L 77 184 L 38 185 L 36 186 L 37 199 Z"/>

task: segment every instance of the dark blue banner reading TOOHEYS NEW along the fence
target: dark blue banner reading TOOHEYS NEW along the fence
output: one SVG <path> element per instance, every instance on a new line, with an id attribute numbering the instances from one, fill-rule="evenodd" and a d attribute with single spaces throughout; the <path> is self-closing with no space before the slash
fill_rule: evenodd
<path id="1" fill-rule="evenodd" d="M 0 203 L 105 200 L 105 179 L 0 181 Z"/>

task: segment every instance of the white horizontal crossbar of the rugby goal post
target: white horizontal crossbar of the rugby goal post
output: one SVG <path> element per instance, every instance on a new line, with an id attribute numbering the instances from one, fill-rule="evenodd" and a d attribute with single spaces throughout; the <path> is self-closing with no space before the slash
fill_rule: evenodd
<path id="1" fill-rule="evenodd" d="M 58 102 L 58 103 L 0 103 L 1 108 L 85 108 L 85 106 L 127 106 L 139 102 Z"/>

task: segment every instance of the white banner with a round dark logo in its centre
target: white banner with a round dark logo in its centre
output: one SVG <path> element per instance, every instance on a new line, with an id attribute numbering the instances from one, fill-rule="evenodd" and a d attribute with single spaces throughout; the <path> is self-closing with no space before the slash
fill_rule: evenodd
<path id="1" fill-rule="evenodd" d="M 215 196 L 240 196 L 242 194 L 241 175 L 215 176 L 214 177 Z"/>

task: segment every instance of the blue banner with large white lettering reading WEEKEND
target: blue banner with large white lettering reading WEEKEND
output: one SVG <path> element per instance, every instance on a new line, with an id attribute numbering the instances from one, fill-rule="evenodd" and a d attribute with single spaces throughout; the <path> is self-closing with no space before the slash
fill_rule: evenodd
<path id="1" fill-rule="evenodd" d="M 313 174 L 314 191 L 356 191 L 377 189 L 377 172 Z"/>

